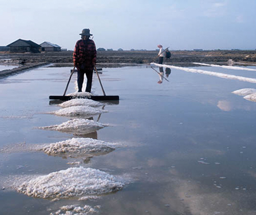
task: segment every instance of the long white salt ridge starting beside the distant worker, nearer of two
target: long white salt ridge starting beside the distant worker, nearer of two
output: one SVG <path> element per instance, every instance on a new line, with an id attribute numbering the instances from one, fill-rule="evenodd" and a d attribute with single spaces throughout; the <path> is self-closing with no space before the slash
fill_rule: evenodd
<path id="1" fill-rule="evenodd" d="M 210 72 L 210 71 L 190 69 L 190 68 L 185 68 L 185 67 L 176 67 L 176 66 L 158 64 L 158 63 L 151 63 L 150 65 L 157 66 L 157 67 L 163 67 L 163 68 L 171 68 L 171 69 L 176 69 L 176 70 L 183 70 L 185 72 L 192 72 L 192 73 L 199 73 L 199 74 L 204 74 L 204 75 L 216 76 L 216 77 L 219 77 L 219 78 L 226 78 L 226 79 L 256 83 L 255 78 L 247 78 L 247 77 L 243 77 L 243 76 L 228 75 L 228 74 L 219 73 L 219 72 Z"/>

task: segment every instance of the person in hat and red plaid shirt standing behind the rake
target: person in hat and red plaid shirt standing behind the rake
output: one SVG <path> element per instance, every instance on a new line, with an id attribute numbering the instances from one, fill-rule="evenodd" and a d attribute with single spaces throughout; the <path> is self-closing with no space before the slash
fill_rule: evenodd
<path id="1" fill-rule="evenodd" d="M 74 66 L 77 68 L 77 85 L 78 92 L 82 92 L 84 73 L 87 77 L 86 92 L 91 92 L 93 80 L 93 68 L 96 64 L 96 47 L 90 39 L 90 29 L 83 29 L 81 39 L 76 42 L 73 52 Z"/>

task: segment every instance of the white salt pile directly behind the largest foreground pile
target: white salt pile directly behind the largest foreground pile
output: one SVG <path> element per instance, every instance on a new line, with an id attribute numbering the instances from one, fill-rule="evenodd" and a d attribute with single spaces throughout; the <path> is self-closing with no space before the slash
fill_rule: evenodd
<path id="1" fill-rule="evenodd" d="M 107 153 L 115 150 L 117 143 L 108 143 L 92 138 L 72 138 L 66 141 L 51 143 L 44 146 L 42 150 L 48 155 L 62 153 Z"/>

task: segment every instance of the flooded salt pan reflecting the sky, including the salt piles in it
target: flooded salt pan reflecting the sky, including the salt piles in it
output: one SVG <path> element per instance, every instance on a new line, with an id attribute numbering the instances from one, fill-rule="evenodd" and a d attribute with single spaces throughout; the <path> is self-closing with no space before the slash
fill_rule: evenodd
<path id="1" fill-rule="evenodd" d="M 0 80 L 1 214 L 256 213 L 256 102 L 244 98 L 255 83 L 171 68 L 159 84 L 148 66 L 103 69 L 104 90 L 119 104 L 49 102 L 70 69 Z M 102 95 L 96 76 L 93 93 Z M 108 112 L 49 114 L 75 106 Z"/>

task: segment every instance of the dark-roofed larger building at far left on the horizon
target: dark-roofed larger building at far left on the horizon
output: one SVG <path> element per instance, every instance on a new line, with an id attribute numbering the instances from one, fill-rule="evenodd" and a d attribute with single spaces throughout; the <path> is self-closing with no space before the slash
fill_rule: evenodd
<path id="1" fill-rule="evenodd" d="M 41 50 L 40 45 L 36 44 L 31 40 L 25 40 L 25 39 L 18 39 L 12 42 L 11 44 L 7 45 L 7 47 L 10 47 L 10 52 L 18 52 L 18 53 L 24 53 L 24 52 L 39 53 Z"/>

